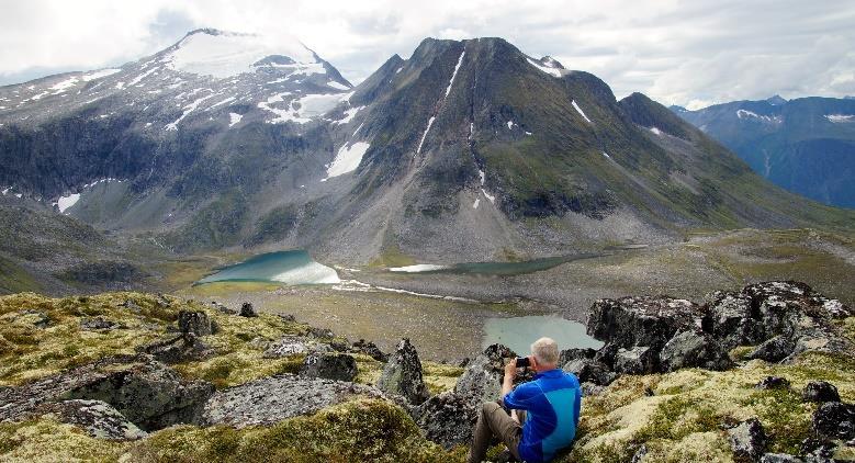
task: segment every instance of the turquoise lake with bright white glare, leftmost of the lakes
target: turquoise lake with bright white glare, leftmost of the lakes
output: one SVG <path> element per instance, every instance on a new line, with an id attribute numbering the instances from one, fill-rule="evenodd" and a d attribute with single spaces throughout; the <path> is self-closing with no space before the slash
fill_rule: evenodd
<path id="1" fill-rule="evenodd" d="M 267 252 L 240 263 L 220 269 L 195 284 L 217 281 L 255 281 L 284 284 L 339 283 L 338 273 L 327 266 L 312 260 L 302 249 Z"/>

